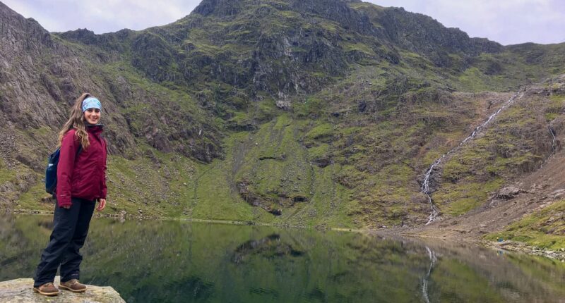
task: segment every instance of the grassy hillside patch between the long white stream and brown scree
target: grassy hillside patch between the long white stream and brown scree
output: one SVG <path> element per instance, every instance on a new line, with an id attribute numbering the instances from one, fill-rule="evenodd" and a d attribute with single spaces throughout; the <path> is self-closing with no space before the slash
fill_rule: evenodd
<path id="1" fill-rule="evenodd" d="M 549 156 L 552 142 L 545 116 L 547 111 L 559 109 L 552 99 L 518 99 L 487 126 L 484 135 L 447 159 L 441 187 L 433 195 L 442 212 L 465 214 L 486 202 L 506 180 L 540 166 Z"/>

